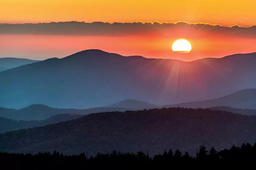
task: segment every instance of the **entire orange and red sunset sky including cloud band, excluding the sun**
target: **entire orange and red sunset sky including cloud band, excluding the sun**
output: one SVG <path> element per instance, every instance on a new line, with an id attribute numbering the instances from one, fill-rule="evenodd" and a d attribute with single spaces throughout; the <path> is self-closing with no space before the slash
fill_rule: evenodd
<path id="1" fill-rule="evenodd" d="M 121 55 L 192 61 L 255 52 L 256 1 L 194 0 L 1 0 L 0 57 L 46 59 L 86 49 Z M 85 23 L 23 24 L 59 21 Z M 86 22 L 158 21 L 188 23 L 123 24 Z M 214 26 L 214 24 L 219 24 Z M 229 27 L 239 25 L 241 27 Z M 188 39 L 188 54 L 171 51 L 179 38 Z"/>

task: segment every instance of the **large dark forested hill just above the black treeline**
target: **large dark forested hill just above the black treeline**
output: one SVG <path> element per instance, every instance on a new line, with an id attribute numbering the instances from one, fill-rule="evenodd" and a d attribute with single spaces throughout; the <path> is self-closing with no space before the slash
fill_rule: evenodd
<path id="1" fill-rule="evenodd" d="M 163 108 L 97 113 L 57 124 L 0 134 L 1 152 L 64 154 L 147 152 L 198 146 L 217 150 L 256 141 L 256 116 L 210 109 Z"/>

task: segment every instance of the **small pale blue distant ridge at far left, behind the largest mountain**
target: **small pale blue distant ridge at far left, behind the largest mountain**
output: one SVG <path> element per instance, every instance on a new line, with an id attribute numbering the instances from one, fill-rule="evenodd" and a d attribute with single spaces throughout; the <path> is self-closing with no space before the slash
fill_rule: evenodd
<path id="1" fill-rule="evenodd" d="M 39 60 L 29 60 L 26 58 L 0 58 L 0 71 L 39 62 Z"/>

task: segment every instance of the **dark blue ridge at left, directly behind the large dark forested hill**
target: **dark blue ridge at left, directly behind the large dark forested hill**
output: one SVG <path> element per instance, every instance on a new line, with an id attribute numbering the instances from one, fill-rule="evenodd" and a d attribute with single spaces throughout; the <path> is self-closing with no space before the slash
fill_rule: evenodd
<path id="1" fill-rule="evenodd" d="M 27 128 L 33 128 L 37 126 L 44 126 L 47 124 L 53 124 L 58 122 L 63 122 L 67 120 L 73 120 L 80 117 L 83 117 L 84 115 L 75 115 L 75 114 L 59 114 L 49 117 L 45 120 L 12 120 L 0 117 L 0 133 L 4 133 L 7 131 L 14 131 L 18 129 L 27 129 Z"/>

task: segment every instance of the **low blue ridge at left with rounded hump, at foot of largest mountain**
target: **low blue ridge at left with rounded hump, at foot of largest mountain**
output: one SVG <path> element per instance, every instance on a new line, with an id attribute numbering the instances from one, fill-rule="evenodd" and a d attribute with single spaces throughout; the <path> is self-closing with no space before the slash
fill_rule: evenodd
<path id="1" fill-rule="evenodd" d="M 13 120 L 44 120 L 58 114 L 87 115 L 98 112 L 126 111 L 126 108 L 96 107 L 88 109 L 61 109 L 52 108 L 42 104 L 32 104 L 22 109 L 9 109 L 0 107 L 0 116 Z"/>

